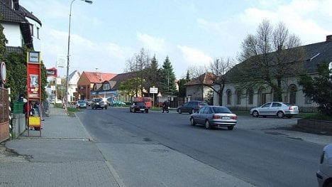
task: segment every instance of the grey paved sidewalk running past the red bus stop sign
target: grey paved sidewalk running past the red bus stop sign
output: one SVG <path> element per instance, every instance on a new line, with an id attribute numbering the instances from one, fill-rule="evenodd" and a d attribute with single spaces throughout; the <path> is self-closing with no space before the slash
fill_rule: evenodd
<path id="1" fill-rule="evenodd" d="M 6 141 L 7 149 L 16 152 L 6 151 L 11 159 L 0 156 L 0 187 L 118 186 L 109 163 L 89 141 L 77 117 L 51 108 L 42 128 L 42 137 L 31 130 L 31 137 L 24 132 L 18 139 Z"/>

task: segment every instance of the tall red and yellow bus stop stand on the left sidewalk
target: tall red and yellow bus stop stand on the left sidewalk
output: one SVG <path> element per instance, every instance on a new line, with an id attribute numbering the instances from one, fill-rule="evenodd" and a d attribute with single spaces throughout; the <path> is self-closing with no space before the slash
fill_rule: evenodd
<path id="1" fill-rule="evenodd" d="M 40 81 L 40 52 L 27 52 L 27 93 L 28 93 L 28 135 L 29 130 L 34 129 L 39 131 L 41 137 L 41 81 Z"/>

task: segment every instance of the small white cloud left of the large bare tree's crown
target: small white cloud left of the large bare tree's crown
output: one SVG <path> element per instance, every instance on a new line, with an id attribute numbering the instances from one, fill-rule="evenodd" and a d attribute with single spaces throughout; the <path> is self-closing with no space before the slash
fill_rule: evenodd
<path id="1" fill-rule="evenodd" d="M 201 50 L 190 48 L 187 46 L 177 46 L 182 51 L 182 57 L 190 65 L 207 65 L 212 62 L 212 58 Z"/>

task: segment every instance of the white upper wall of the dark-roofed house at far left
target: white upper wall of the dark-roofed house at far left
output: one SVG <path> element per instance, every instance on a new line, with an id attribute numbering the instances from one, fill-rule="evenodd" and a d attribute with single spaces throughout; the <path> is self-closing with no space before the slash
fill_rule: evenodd
<path id="1" fill-rule="evenodd" d="M 6 46 L 22 47 L 23 37 L 21 35 L 21 28 L 16 23 L 1 23 L 4 27 L 4 35 L 8 43 Z"/>

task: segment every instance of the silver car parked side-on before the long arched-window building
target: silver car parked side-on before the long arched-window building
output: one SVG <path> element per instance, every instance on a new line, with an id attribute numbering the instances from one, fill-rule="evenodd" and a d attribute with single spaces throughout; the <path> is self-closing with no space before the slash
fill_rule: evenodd
<path id="1" fill-rule="evenodd" d="M 299 114 L 299 107 L 290 105 L 287 102 L 267 102 L 260 107 L 250 109 L 250 114 L 253 117 L 287 117 L 291 118 L 294 115 Z"/>

